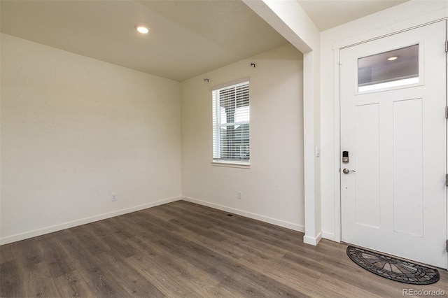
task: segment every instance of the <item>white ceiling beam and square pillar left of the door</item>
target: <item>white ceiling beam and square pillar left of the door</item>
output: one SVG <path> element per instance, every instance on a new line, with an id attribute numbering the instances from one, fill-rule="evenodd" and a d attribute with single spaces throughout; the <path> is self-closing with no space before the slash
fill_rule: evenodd
<path id="1" fill-rule="evenodd" d="M 303 57 L 304 243 L 316 245 L 321 234 L 320 31 L 296 0 L 243 0 L 295 46 Z"/>

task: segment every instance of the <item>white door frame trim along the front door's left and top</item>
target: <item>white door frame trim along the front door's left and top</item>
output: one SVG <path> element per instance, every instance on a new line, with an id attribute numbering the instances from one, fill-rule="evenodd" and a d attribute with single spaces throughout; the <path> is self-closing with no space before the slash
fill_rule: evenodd
<path id="1" fill-rule="evenodd" d="M 340 73 L 339 73 L 339 65 L 340 65 L 340 52 L 344 48 L 349 48 L 353 45 L 358 45 L 361 43 L 367 43 L 370 41 L 377 40 L 379 38 L 384 38 L 386 36 L 391 36 L 395 34 L 400 34 L 404 31 L 409 31 L 411 29 L 416 29 L 418 27 L 424 27 L 428 24 L 433 24 L 435 22 L 446 21 L 447 25 L 447 40 L 448 40 L 448 17 L 440 17 L 440 14 L 433 13 L 430 15 L 425 15 L 423 17 L 419 17 L 412 22 L 402 22 L 399 24 L 394 24 L 393 27 L 385 27 L 383 29 L 379 29 L 376 31 L 370 31 L 363 36 L 356 36 L 354 38 L 348 38 L 343 41 L 339 41 L 333 45 L 333 66 L 334 66 L 334 136 L 335 136 L 335 152 L 334 152 L 334 185 L 335 185 L 335 241 L 342 241 L 342 201 L 341 201 L 341 169 L 340 169 L 340 159 L 342 156 L 342 148 L 341 148 L 341 97 L 340 97 Z M 392 33 L 391 33 L 392 32 Z M 448 59 L 447 59 L 447 78 L 448 78 Z M 446 86 L 448 97 L 448 84 Z M 448 99 L 447 105 L 448 105 Z M 448 123 L 448 121 L 447 121 Z M 448 124 L 447 124 L 447 173 L 448 173 Z M 447 199 L 448 199 L 448 191 L 447 191 Z M 447 204 L 447 215 L 448 215 L 448 204 Z M 448 222 L 447 222 L 447 239 L 448 239 Z M 447 256 L 447 266 L 448 266 L 448 256 Z"/>

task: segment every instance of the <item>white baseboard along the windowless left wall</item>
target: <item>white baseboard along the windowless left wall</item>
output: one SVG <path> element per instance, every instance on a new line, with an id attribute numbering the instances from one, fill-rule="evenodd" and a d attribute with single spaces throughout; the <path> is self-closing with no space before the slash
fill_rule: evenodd
<path id="1" fill-rule="evenodd" d="M 143 209 L 146 209 L 146 208 L 151 208 L 151 207 L 155 207 L 155 206 L 171 203 L 172 201 L 179 201 L 180 199 L 181 199 L 181 197 L 173 197 L 173 198 L 169 198 L 169 199 L 162 199 L 160 201 L 154 201 L 154 202 L 149 203 L 149 204 L 143 204 L 143 205 L 134 206 L 134 207 L 130 207 L 130 208 L 120 209 L 120 210 L 109 212 L 109 213 L 103 213 L 103 214 L 99 214 L 99 215 L 94 215 L 94 216 L 92 216 L 90 218 L 83 218 L 83 219 L 80 219 L 80 220 L 73 220 L 71 222 L 64 222 L 64 223 L 62 223 L 60 225 L 53 225 L 51 227 L 44 227 L 44 228 L 41 228 L 41 229 L 35 229 L 33 231 L 29 231 L 29 232 L 25 232 L 25 233 L 15 234 L 15 235 L 12 235 L 12 236 L 6 236 L 6 237 L 3 237 L 3 238 L 0 238 L 0 245 L 11 243 L 11 242 L 15 242 L 15 241 L 20 241 L 20 240 L 24 240 L 24 239 L 29 239 L 29 238 L 36 237 L 36 236 L 41 236 L 41 235 L 49 234 L 49 233 L 52 233 L 52 232 L 61 231 L 62 229 L 69 229 L 71 227 L 76 227 L 78 225 L 85 225 L 87 223 L 96 222 L 98 220 L 105 220 L 106 218 L 113 218 L 113 217 L 118 216 L 118 215 L 123 215 L 123 214 L 126 214 L 126 213 L 131 213 L 131 212 L 134 212 L 134 211 L 139 211 L 139 210 L 143 210 Z"/>

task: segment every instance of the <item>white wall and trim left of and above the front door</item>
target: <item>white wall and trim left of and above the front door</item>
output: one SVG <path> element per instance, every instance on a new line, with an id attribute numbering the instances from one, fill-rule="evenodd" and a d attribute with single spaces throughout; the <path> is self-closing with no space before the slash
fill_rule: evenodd
<path id="1" fill-rule="evenodd" d="M 447 1 L 409 1 L 321 32 L 321 212 L 323 238 L 340 240 L 339 48 L 448 17 Z M 443 46 L 443 41 L 441 42 Z"/>

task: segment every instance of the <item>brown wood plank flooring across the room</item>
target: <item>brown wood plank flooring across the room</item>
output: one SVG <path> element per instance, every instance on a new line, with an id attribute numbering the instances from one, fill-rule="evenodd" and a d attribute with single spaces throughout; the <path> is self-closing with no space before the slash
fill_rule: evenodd
<path id="1" fill-rule="evenodd" d="M 402 297 L 346 245 L 186 201 L 0 246 L 0 297 Z"/>

